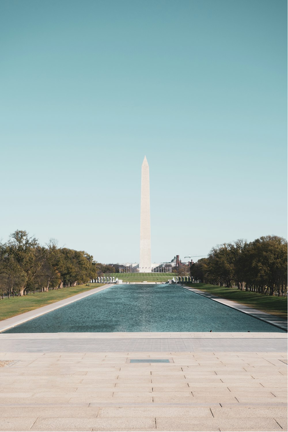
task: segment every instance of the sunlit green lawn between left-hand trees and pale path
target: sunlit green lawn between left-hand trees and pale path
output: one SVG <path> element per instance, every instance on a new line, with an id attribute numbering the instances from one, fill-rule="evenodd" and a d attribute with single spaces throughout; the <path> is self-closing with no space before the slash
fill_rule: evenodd
<path id="1" fill-rule="evenodd" d="M 41 306 L 59 302 L 80 292 L 97 288 L 97 286 L 101 286 L 101 283 L 89 283 L 89 286 L 78 285 L 71 286 L 70 288 L 53 289 L 48 292 L 35 292 L 35 294 L 24 295 L 23 297 L 10 297 L 10 299 L 4 297 L 3 300 L 0 300 L 0 321 L 41 308 Z"/>

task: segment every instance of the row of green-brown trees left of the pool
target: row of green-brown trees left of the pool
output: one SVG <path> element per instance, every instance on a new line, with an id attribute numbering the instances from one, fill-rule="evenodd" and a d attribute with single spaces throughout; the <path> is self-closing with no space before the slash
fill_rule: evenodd
<path id="1" fill-rule="evenodd" d="M 101 269 L 100 269 L 101 270 Z M 57 242 L 41 246 L 26 231 L 17 230 L 0 243 L 0 290 L 10 295 L 27 295 L 49 289 L 76 286 L 94 279 L 98 263 L 84 251 L 58 248 Z"/>

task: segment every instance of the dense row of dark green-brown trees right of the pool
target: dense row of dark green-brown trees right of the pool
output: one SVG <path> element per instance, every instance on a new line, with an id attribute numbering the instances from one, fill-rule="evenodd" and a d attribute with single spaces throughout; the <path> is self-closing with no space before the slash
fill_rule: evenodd
<path id="1" fill-rule="evenodd" d="M 237 240 L 212 248 L 190 268 L 194 279 L 212 285 L 287 295 L 287 240 L 277 235 Z"/>

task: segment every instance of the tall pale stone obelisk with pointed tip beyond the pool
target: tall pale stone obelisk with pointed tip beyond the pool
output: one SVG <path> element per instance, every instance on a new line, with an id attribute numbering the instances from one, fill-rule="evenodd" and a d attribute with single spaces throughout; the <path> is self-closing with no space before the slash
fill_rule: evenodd
<path id="1" fill-rule="evenodd" d="M 151 272 L 150 187 L 146 156 L 141 169 L 140 273 Z"/>

